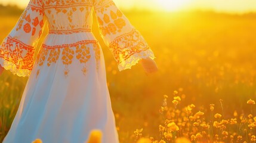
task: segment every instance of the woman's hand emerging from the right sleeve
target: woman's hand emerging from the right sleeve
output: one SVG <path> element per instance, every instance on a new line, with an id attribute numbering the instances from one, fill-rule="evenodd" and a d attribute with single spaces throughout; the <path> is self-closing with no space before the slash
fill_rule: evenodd
<path id="1" fill-rule="evenodd" d="M 156 62 L 149 57 L 142 58 L 140 60 L 140 63 L 143 66 L 143 69 L 146 71 L 146 73 L 154 73 L 158 71 L 158 66 L 156 66 Z"/>

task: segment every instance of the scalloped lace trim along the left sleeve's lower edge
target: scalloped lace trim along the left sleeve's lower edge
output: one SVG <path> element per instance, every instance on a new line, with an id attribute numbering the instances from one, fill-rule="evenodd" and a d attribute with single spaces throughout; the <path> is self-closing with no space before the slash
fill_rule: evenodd
<path id="1" fill-rule="evenodd" d="M 17 76 L 28 77 L 31 73 L 30 69 L 17 69 L 16 64 L 2 58 L 0 58 L 0 65 L 4 67 L 5 70 L 10 70 L 14 75 L 17 74 Z"/>

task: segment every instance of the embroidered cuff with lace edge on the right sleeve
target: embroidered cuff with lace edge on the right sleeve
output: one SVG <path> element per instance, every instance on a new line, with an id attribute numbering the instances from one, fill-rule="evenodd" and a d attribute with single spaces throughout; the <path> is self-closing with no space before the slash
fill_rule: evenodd
<path id="1" fill-rule="evenodd" d="M 109 44 L 109 48 L 118 63 L 119 71 L 131 69 L 131 66 L 137 64 L 141 58 L 150 57 L 152 60 L 156 58 L 137 29 L 115 38 Z"/>

